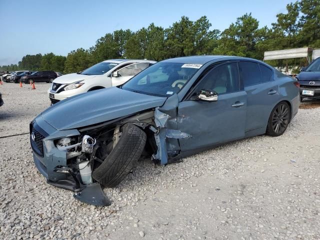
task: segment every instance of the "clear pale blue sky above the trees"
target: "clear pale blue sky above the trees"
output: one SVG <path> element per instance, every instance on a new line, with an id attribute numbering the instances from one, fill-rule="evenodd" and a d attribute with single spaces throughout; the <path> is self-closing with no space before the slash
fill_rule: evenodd
<path id="1" fill-rule="evenodd" d="M 154 22 L 168 27 L 182 15 L 206 15 L 223 30 L 252 12 L 260 26 L 270 26 L 291 0 L 0 0 L 0 65 L 26 54 L 66 55 L 89 48 L 116 29 L 137 30 Z"/>

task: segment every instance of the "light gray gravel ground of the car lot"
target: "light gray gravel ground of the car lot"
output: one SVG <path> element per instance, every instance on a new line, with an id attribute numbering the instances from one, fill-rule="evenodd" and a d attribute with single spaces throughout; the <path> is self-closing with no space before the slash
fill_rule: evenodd
<path id="1" fill-rule="evenodd" d="M 0 85 L 0 137 L 28 131 L 49 106 L 48 86 Z M 305 105 L 282 136 L 166 166 L 139 161 L 104 189 L 108 207 L 46 184 L 27 134 L 0 138 L 0 239 L 320 239 L 320 108 Z"/>

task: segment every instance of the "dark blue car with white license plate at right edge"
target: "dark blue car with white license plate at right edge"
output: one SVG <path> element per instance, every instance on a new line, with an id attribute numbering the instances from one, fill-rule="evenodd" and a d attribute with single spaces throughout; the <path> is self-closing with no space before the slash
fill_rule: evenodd
<path id="1" fill-rule="evenodd" d="M 300 83 L 300 98 L 320 99 L 320 57 L 311 62 L 296 76 Z"/>

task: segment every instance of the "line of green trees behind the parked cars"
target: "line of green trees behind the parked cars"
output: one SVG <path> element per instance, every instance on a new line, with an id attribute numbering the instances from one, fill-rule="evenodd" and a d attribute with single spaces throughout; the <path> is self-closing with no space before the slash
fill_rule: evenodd
<path id="1" fill-rule="evenodd" d="M 263 59 L 264 51 L 296 47 L 320 48 L 320 0 L 299 0 L 286 5 L 276 22 L 259 27 L 259 21 L 246 13 L 223 31 L 211 29 L 206 16 L 192 21 L 182 16 L 168 28 L 154 23 L 137 31 L 115 30 L 96 40 L 89 49 L 78 48 L 67 56 L 50 52 L 25 55 L 18 64 L 0 70 L 81 71 L 112 58 L 163 60 L 188 55 L 237 55 Z M 290 60 L 293 61 L 293 60 Z M 268 62 L 282 64 L 281 60 Z"/>

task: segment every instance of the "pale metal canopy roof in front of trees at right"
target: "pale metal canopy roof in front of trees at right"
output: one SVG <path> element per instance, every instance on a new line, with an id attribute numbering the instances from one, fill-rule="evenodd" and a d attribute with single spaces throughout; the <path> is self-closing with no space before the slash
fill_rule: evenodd
<path id="1" fill-rule="evenodd" d="M 289 59 L 289 58 L 300 58 L 306 57 L 307 61 L 310 62 L 309 54 L 312 54 L 313 48 L 302 47 L 286 50 L 276 51 L 265 51 L 263 60 L 277 60 L 277 59 Z"/>

